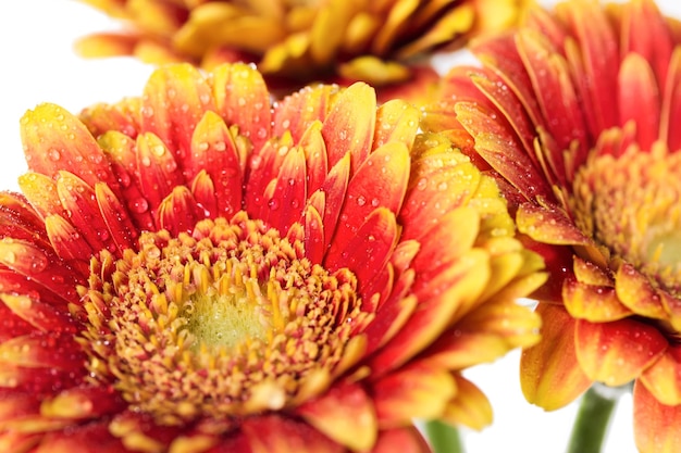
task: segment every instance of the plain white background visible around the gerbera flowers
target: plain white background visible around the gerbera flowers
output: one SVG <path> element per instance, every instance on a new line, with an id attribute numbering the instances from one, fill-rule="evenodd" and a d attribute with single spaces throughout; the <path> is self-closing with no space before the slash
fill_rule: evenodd
<path id="1" fill-rule="evenodd" d="M 74 40 L 90 32 L 116 29 L 108 17 L 74 0 L 4 0 L 0 14 L 0 189 L 17 189 L 26 165 L 18 119 L 40 102 L 54 102 L 77 113 L 96 102 L 139 96 L 151 67 L 132 59 L 83 60 Z M 550 4 L 553 1 L 545 1 Z M 658 1 L 681 17 L 681 3 Z M 518 381 L 518 353 L 480 366 L 468 376 L 485 391 L 495 423 L 481 433 L 465 431 L 468 453 L 561 453 L 566 449 L 573 403 L 545 413 L 523 400 Z M 622 398 L 610 427 L 606 453 L 635 453 L 630 395 Z"/>

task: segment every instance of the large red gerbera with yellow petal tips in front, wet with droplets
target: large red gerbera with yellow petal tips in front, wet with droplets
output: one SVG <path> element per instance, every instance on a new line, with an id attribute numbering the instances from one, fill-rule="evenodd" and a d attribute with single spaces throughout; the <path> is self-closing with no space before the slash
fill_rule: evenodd
<path id="1" fill-rule="evenodd" d="M 484 426 L 461 370 L 537 340 L 493 179 L 364 84 L 272 105 L 248 65 L 181 64 L 21 125 L 3 451 L 425 451 L 413 417 Z"/>

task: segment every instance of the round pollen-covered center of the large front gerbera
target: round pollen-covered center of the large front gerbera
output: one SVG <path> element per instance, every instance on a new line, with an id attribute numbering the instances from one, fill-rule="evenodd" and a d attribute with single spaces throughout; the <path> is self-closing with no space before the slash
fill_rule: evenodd
<path id="1" fill-rule="evenodd" d="M 305 401 L 356 362 L 369 319 L 351 272 L 243 212 L 143 234 L 138 252 L 101 252 L 90 269 L 90 376 L 165 425 Z"/>

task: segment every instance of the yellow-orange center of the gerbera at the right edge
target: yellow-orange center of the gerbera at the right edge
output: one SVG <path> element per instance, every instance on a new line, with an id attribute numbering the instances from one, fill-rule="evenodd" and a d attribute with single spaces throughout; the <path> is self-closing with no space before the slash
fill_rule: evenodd
<path id="1" fill-rule="evenodd" d="M 574 180 L 578 226 L 681 297 L 681 153 L 664 143 L 591 159 Z"/>

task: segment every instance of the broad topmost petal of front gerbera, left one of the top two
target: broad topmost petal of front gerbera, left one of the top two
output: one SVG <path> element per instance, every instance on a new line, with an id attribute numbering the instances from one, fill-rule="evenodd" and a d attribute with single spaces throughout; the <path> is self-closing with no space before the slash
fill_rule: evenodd
<path id="1" fill-rule="evenodd" d="M 145 87 L 141 130 L 152 133 L 165 144 L 181 171 L 189 154 L 194 128 L 203 113 L 213 108 L 212 96 L 199 70 L 190 64 L 161 67 L 151 74 Z M 168 168 L 168 173 L 175 169 L 177 166 Z"/>

